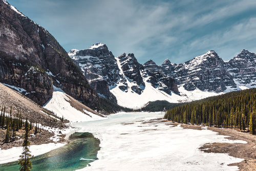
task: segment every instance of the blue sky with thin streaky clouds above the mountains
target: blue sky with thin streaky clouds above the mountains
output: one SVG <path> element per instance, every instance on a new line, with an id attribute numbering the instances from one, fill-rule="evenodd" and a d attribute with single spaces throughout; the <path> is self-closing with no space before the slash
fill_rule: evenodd
<path id="1" fill-rule="evenodd" d="M 114 56 L 134 53 L 185 62 L 209 50 L 223 60 L 242 49 L 256 53 L 255 0 L 7 0 L 47 29 L 66 50 L 97 42 Z"/>

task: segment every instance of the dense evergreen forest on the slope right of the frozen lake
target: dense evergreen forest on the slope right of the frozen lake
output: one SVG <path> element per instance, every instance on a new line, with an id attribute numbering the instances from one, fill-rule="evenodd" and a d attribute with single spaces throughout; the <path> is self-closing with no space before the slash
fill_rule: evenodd
<path id="1" fill-rule="evenodd" d="M 179 123 L 234 127 L 240 131 L 250 131 L 254 135 L 256 89 L 230 92 L 185 103 L 168 110 L 164 118 Z"/>

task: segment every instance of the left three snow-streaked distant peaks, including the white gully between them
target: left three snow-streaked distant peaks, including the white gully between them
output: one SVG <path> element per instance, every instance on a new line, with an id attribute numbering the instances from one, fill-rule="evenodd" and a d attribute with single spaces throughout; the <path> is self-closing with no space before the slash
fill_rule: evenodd
<path id="1" fill-rule="evenodd" d="M 142 94 L 145 81 L 169 95 L 172 91 L 179 94 L 174 79 L 149 70 L 148 65 L 141 65 L 133 53 L 123 53 L 115 58 L 106 45 L 98 43 L 86 50 L 70 50 L 68 54 L 80 67 L 90 86 L 110 100 L 114 99 L 110 91 L 116 87 L 122 92 Z"/>

